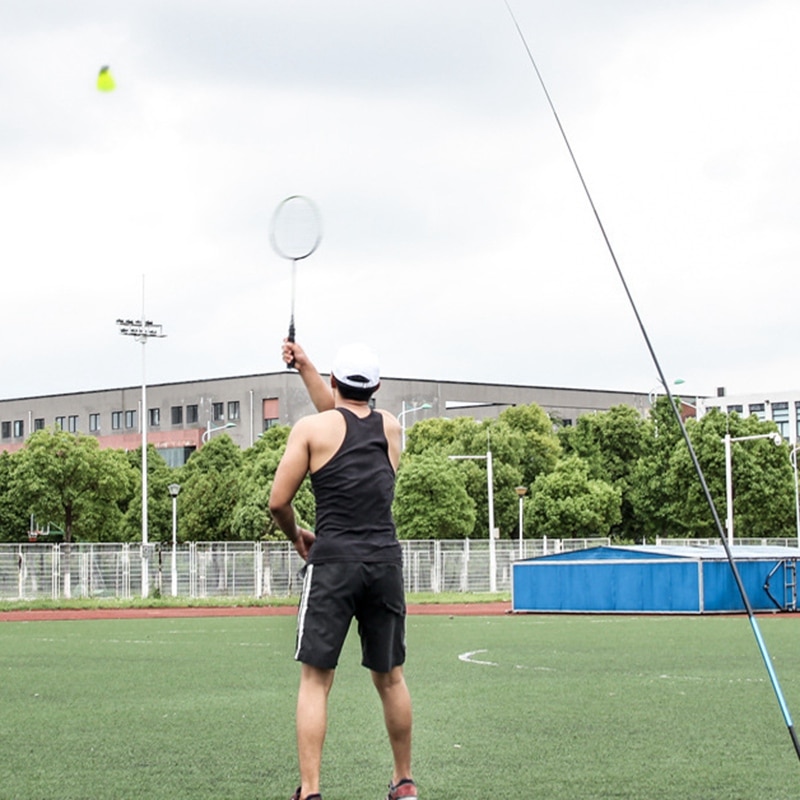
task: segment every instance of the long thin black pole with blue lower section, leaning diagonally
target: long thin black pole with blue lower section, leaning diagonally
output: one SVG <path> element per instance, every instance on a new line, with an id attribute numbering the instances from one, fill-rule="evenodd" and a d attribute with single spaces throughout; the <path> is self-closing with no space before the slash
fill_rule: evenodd
<path id="1" fill-rule="evenodd" d="M 725 530 L 722 526 L 722 522 L 720 521 L 719 514 L 717 513 L 717 507 L 714 505 L 714 500 L 711 497 L 711 492 L 708 490 L 708 484 L 706 483 L 705 475 L 703 474 L 703 469 L 700 466 L 700 462 L 697 460 L 697 455 L 694 451 L 694 447 L 692 447 L 692 442 L 689 439 L 689 434 L 686 431 L 686 425 L 683 422 L 683 418 L 681 417 L 680 411 L 678 410 L 678 406 L 675 403 L 675 398 L 672 396 L 672 392 L 669 390 L 669 386 L 667 384 L 666 379 L 664 378 L 664 373 L 661 369 L 661 364 L 658 360 L 658 356 L 656 356 L 656 352 L 653 349 L 653 345 L 650 342 L 650 337 L 647 334 L 647 329 L 644 326 L 644 322 L 642 322 L 642 318 L 639 315 L 639 310 L 636 307 L 636 303 L 633 300 L 633 295 L 628 288 L 628 282 L 625 280 L 625 276 L 622 274 L 622 269 L 619 266 L 619 262 L 617 261 L 617 256 L 614 253 L 614 248 L 611 246 L 611 242 L 608 238 L 608 234 L 606 234 L 605 226 L 603 225 L 603 221 L 600 219 L 600 214 L 597 212 L 597 207 L 594 204 L 594 200 L 592 200 L 592 195 L 589 192 L 589 187 L 586 185 L 586 181 L 583 178 L 583 173 L 581 172 L 581 168 L 578 165 L 578 161 L 575 158 L 575 153 L 572 151 L 572 146 L 569 143 L 569 139 L 567 138 L 566 131 L 564 130 L 564 126 L 561 124 L 561 119 L 558 116 L 558 112 L 556 111 L 556 107 L 553 104 L 553 100 L 550 97 L 550 92 L 547 91 L 547 86 L 545 85 L 544 79 L 542 78 L 541 72 L 539 72 L 539 67 L 536 65 L 536 60 L 533 57 L 533 53 L 531 53 L 530 47 L 528 47 L 528 42 L 525 39 L 525 35 L 522 32 L 522 28 L 520 28 L 519 23 L 517 22 L 517 18 L 514 16 L 514 12 L 511 10 L 511 6 L 508 4 L 508 0 L 503 0 L 505 3 L 506 9 L 508 9 L 509 16 L 511 17 L 512 22 L 514 23 L 514 27 L 517 29 L 517 33 L 519 34 L 519 38 L 522 40 L 522 44 L 525 47 L 525 51 L 528 53 L 528 58 L 530 59 L 531 65 L 533 66 L 534 71 L 536 72 L 536 77 L 539 79 L 539 85 L 542 87 L 542 91 L 544 92 L 544 96 L 547 98 L 547 103 L 550 106 L 550 110 L 553 112 L 553 117 L 555 118 L 556 124 L 558 125 L 558 129 L 561 131 L 561 138 L 564 140 L 564 144 L 567 147 L 569 152 L 569 156 L 572 159 L 572 164 L 575 167 L 575 171 L 578 173 L 578 178 L 580 179 L 581 186 L 583 186 L 584 194 L 586 195 L 586 199 L 589 201 L 589 205 L 592 208 L 592 213 L 594 214 L 594 218 L 597 221 L 597 225 L 600 228 L 600 232 L 603 235 L 603 239 L 606 243 L 606 247 L 608 248 L 609 255 L 611 256 L 611 260 L 614 262 L 614 267 L 617 270 L 617 275 L 619 276 L 620 282 L 622 283 L 622 287 L 625 290 L 625 294 L 628 297 L 628 302 L 630 303 L 631 308 L 633 309 L 633 313 L 636 316 L 636 322 L 639 325 L 639 330 L 642 332 L 642 336 L 644 337 L 645 344 L 647 345 L 647 349 L 650 352 L 650 358 L 653 360 L 653 364 L 655 365 L 656 372 L 658 372 L 658 379 L 661 385 L 664 387 L 664 391 L 666 392 L 667 397 L 669 398 L 670 406 L 672 407 L 672 412 L 675 415 L 675 419 L 680 426 L 681 433 L 683 435 L 683 439 L 686 442 L 686 446 L 689 448 L 689 455 L 692 459 L 692 464 L 694 464 L 695 471 L 697 472 L 697 477 L 700 479 L 700 485 L 703 489 L 703 495 L 706 498 L 706 503 L 708 503 L 708 507 L 711 511 L 711 516 L 714 518 L 714 524 L 717 528 L 717 533 L 719 534 L 720 541 L 722 542 L 722 546 L 725 549 L 725 555 L 728 559 L 728 564 L 731 568 L 731 573 L 733 574 L 733 579 L 736 582 L 736 587 L 739 590 L 739 594 L 742 598 L 742 603 L 744 604 L 745 611 L 747 612 L 747 617 L 750 620 L 750 627 L 753 629 L 753 634 L 756 637 L 756 642 L 758 643 L 758 649 L 761 653 L 761 658 L 764 660 L 764 665 L 767 668 L 767 672 L 769 673 L 770 683 L 772 684 L 772 689 L 775 692 L 775 697 L 778 700 L 778 705 L 780 706 L 781 713 L 783 714 L 783 720 L 786 723 L 786 727 L 789 730 L 789 735 L 792 737 L 792 744 L 794 745 L 795 753 L 797 754 L 798 759 L 800 759 L 800 742 L 798 742 L 797 734 L 795 733 L 794 724 L 792 722 L 792 715 L 789 712 L 789 706 L 786 704 L 786 699 L 783 696 L 783 691 L 781 690 L 780 682 L 778 681 L 778 676 L 775 673 L 775 669 L 772 666 L 772 659 L 770 658 L 769 652 L 767 651 L 767 646 L 764 643 L 764 638 L 761 635 L 761 629 L 758 624 L 758 620 L 756 619 L 755 614 L 753 613 L 753 606 L 750 604 L 750 598 L 747 596 L 747 590 L 744 588 L 744 583 L 742 583 L 741 575 L 739 574 L 739 570 L 736 566 L 736 562 L 733 560 L 733 553 L 731 552 L 730 545 L 728 544 L 727 537 L 725 536 Z"/>

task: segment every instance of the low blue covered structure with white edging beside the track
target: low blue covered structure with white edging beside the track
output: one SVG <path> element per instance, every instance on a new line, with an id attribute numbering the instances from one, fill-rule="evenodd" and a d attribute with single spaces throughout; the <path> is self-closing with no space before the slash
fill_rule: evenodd
<path id="1" fill-rule="evenodd" d="M 754 611 L 795 610 L 793 547 L 734 546 Z M 518 561 L 512 611 L 708 614 L 744 611 L 722 545 L 592 547 Z"/>

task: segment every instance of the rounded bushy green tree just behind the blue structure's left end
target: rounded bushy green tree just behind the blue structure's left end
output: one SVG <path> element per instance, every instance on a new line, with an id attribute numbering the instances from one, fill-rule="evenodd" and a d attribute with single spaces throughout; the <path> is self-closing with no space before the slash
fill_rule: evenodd
<path id="1" fill-rule="evenodd" d="M 620 522 L 620 503 L 619 489 L 590 478 L 588 466 L 569 456 L 536 479 L 525 518 L 539 536 L 606 536 Z"/>

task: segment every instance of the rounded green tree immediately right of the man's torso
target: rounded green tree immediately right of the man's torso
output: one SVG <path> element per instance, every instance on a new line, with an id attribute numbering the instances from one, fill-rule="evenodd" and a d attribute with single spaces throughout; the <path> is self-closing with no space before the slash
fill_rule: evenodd
<path id="1" fill-rule="evenodd" d="M 458 469 L 435 452 L 403 459 L 393 513 L 401 539 L 464 539 L 475 528 L 475 502 Z"/>

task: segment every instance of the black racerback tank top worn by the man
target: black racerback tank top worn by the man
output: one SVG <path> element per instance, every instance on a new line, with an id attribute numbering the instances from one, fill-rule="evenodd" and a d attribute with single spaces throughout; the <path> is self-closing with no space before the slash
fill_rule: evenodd
<path id="1" fill-rule="evenodd" d="M 309 564 L 325 561 L 402 563 L 392 500 L 395 473 L 383 417 L 371 411 L 358 417 L 344 408 L 344 441 L 335 455 L 311 475 L 317 503 L 316 541 Z"/>

